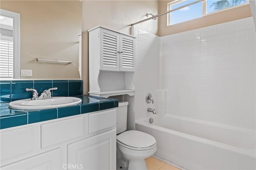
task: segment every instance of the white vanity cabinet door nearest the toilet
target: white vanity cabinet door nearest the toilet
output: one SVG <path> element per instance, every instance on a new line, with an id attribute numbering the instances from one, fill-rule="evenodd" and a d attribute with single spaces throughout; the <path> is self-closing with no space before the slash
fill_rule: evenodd
<path id="1" fill-rule="evenodd" d="M 116 170 L 116 129 L 68 144 L 68 165 L 84 170 Z"/>

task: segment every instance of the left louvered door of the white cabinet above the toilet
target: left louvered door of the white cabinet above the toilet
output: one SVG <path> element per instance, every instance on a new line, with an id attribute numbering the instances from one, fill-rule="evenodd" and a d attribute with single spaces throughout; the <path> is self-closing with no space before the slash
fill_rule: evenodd
<path id="1" fill-rule="evenodd" d="M 119 71 L 120 35 L 116 32 L 100 29 L 100 70 Z"/>

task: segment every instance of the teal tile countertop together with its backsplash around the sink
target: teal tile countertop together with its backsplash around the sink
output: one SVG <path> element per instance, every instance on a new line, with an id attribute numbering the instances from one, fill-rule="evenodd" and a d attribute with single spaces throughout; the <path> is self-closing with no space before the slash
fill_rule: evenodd
<path id="1" fill-rule="evenodd" d="M 118 100 L 88 95 L 82 96 L 82 84 L 82 80 L 1 81 L 0 129 L 118 107 Z M 42 91 L 52 87 L 58 87 L 58 90 L 52 91 L 53 97 L 75 96 L 82 99 L 82 103 L 70 107 L 37 111 L 17 111 L 8 108 L 10 101 L 32 97 L 31 91 L 27 92 L 26 88 L 34 88 L 40 95 Z"/>

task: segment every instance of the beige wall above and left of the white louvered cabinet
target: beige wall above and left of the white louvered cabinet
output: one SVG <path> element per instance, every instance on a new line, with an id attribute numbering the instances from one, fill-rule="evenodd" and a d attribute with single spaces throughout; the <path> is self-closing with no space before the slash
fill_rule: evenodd
<path id="1" fill-rule="evenodd" d="M 158 14 L 157 0 L 82 1 L 82 79 L 84 81 L 84 94 L 89 90 L 87 30 L 100 25 L 130 34 L 130 24 L 145 19 L 146 13 Z M 149 20 L 137 26 L 152 34 L 158 34 L 158 20 Z"/>

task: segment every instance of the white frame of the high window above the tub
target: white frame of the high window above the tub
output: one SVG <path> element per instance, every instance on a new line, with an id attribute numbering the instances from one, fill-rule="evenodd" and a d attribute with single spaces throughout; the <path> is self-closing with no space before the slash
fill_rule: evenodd
<path id="1" fill-rule="evenodd" d="M 171 10 L 171 6 L 174 6 L 174 5 L 177 5 L 177 4 L 180 4 L 182 2 L 186 2 L 188 0 L 174 0 L 172 2 L 169 2 L 167 4 L 167 11 Z M 199 3 L 199 2 L 198 2 Z M 218 10 L 218 11 L 215 11 L 215 12 L 211 12 L 211 13 L 206 13 L 206 8 L 207 8 L 207 0 L 204 0 L 202 1 L 202 16 L 201 17 L 204 17 L 204 16 L 208 16 L 208 15 L 211 15 L 211 14 L 216 14 L 218 12 L 222 12 L 222 11 L 226 11 L 226 10 L 230 10 L 230 9 L 233 9 L 233 8 L 237 8 L 237 7 L 240 7 L 240 6 L 244 6 L 244 5 L 247 5 L 249 4 L 249 0 L 246 0 L 246 3 L 244 4 L 240 4 L 240 5 L 237 5 L 237 6 L 232 6 L 230 8 L 225 8 L 223 10 Z M 167 26 L 172 26 L 172 25 L 175 25 L 175 24 L 171 24 L 171 18 L 172 18 L 172 12 L 170 12 L 168 15 L 167 15 Z M 196 19 L 196 18 L 194 18 Z M 193 19 L 192 19 L 193 20 Z M 190 20 L 187 20 L 187 21 L 190 21 Z M 184 21 L 186 22 L 186 21 Z M 180 24 L 182 22 L 179 22 L 179 23 L 176 23 L 176 24 Z"/>

